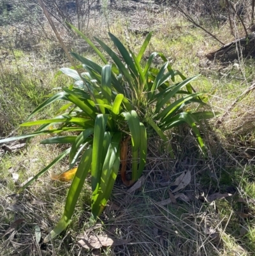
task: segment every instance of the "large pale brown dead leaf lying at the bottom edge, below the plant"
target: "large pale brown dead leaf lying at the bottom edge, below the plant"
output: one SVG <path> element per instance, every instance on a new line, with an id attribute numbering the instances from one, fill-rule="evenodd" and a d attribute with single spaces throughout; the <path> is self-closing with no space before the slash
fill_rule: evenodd
<path id="1" fill-rule="evenodd" d="M 126 245 L 130 241 L 131 239 L 122 240 L 122 239 L 116 239 L 108 236 L 90 236 L 90 237 L 84 237 L 83 239 L 79 240 L 77 243 L 83 248 L 99 249 L 102 246 Z"/>

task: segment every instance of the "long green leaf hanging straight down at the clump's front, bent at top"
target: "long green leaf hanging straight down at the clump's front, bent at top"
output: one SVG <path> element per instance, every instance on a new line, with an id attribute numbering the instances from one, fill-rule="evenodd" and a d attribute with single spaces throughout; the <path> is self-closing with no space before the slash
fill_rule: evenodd
<path id="1" fill-rule="evenodd" d="M 92 194 L 96 195 L 98 193 L 100 179 L 101 179 L 101 170 L 102 170 L 102 148 L 103 141 L 105 137 L 105 128 L 107 123 L 108 116 L 103 114 L 98 114 L 95 121 L 94 128 L 94 140 L 93 140 L 93 157 L 92 157 L 92 166 L 91 166 L 91 187 Z"/>

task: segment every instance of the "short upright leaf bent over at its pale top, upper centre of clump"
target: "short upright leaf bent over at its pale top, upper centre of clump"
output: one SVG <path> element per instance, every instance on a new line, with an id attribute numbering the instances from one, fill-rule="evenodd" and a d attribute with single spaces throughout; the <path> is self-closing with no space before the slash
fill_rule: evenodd
<path id="1" fill-rule="evenodd" d="M 105 104 L 110 105 L 112 102 L 112 65 L 106 65 L 102 69 L 102 77 L 101 77 L 101 89 L 102 89 L 102 96 L 103 102 Z"/>

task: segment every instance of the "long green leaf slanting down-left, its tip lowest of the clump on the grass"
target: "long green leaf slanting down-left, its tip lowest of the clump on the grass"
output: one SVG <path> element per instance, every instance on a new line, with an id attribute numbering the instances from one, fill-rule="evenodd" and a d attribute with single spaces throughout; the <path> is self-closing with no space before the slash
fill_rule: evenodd
<path id="1" fill-rule="evenodd" d="M 73 178 L 73 182 L 69 188 L 68 196 L 66 197 L 66 205 L 64 207 L 64 215 L 50 234 L 45 237 L 44 243 L 47 243 L 50 241 L 50 239 L 53 239 L 55 236 L 59 235 L 71 222 L 71 216 L 75 211 L 75 206 L 77 204 L 80 192 L 82 191 L 82 187 L 84 186 L 85 178 L 87 177 L 89 169 L 91 169 L 91 160 L 92 149 L 89 147 L 82 156 L 82 160 L 78 165 L 77 172 L 75 173 L 75 177 Z"/>

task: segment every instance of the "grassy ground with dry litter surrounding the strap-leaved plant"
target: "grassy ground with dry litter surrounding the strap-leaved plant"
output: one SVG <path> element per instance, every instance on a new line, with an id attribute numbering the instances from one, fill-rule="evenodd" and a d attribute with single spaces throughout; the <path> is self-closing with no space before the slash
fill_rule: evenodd
<path id="1" fill-rule="evenodd" d="M 48 29 L 46 22 L 43 26 Z M 144 32 L 155 31 L 147 56 L 154 51 L 164 52 L 173 67 L 187 77 L 202 73 L 193 87 L 206 91 L 211 109 L 222 114 L 255 80 L 252 59 L 241 58 L 233 63 L 207 61 L 205 54 L 217 49 L 219 43 L 169 7 L 150 1 L 118 1 L 107 8 L 101 3 L 92 8 L 89 27 L 84 27 L 84 33 L 107 42 L 108 29 L 135 51 L 142 45 Z M 221 40 L 231 40 L 226 24 L 210 29 Z M 27 114 L 43 102 L 52 89 L 71 82 L 63 75 L 55 77 L 57 70 L 69 63 L 54 40 L 31 34 L 29 39 L 27 34 L 22 37 L 19 32 L 15 36 L 19 36 L 20 47 L 14 39 L 14 43 L 6 39 L 12 31 L 19 30 L 1 28 L 4 43 L 0 63 L 2 135 L 21 133 L 22 130 L 16 128 Z M 87 45 L 80 44 L 79 40 L 64 39 L 75 45 L 73 50 L 96 59 Z M 27 40 L 30 48 L 24 47 Z M 253 98 L 251 91 L 220 124 L 216 125 L 217 121 L 213 120 L 205 125 L 207 160 L 200 158 L 196 140 L 187 127 L 171 131 L 175 159 L 170 158 L 159 139 L 151 138 L 142 186 L 130 192 L 118 178 L 109 206 L 97 223 L 90 221 L 88 180 L 73 222 L 66 232 L 48 244 L 42 242 L 43 238 L 62 215 L 69 183 L 52 181 L 46 174 L 25 193 L 16 195 L 15 192 L 20 184 L 50 163 L 61 147 L 40 146 L 39 139 L 34 139 L 27 149 L 15 149 L 17 143 L 3 146 L 0 151 L 0 254 L 254 255 Z M 50 116 L 58 108 L 54 105 L 40 117 Z M 62 161 L 52 171 L 61 173 L 66 168 L 66 161 Z M 173 192 L 178 187 L 177 177 L 187 177 L 187 174 L 187 186 Z M 41 239 L 36 241 L 38 227 Z M 81 234 L 107 235 L 128 243 L 87 250 L 77 245 Z"/>

